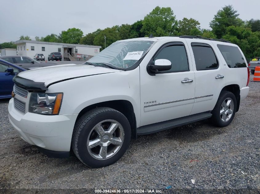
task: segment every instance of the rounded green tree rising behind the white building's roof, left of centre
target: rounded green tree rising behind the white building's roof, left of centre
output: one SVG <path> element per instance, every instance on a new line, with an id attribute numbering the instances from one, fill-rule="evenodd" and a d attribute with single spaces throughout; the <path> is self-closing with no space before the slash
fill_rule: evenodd
<path id="1" fill-rule="evenodd" d="M 62 31 L 61 40 L 63 43 L 78 44 L 83 32 L 77 28 L 69 28 L 67 31 Z"/>

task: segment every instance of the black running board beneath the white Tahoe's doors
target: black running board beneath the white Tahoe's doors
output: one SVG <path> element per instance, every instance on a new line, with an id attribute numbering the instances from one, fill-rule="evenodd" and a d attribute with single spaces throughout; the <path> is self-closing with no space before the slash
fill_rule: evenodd
<path id="1" fill-rule="evenodd" d="M 137 128 L 137 135 L 147 135 L 150 133 L 156 133 L 173 127 L 194 123 L 199 120 L 210 118 L 212 114 L 210 112 L 202 112 L 194 115 L 184 116 L 181 118 L 167 120 L 159 123 L 145 125 Z"/>

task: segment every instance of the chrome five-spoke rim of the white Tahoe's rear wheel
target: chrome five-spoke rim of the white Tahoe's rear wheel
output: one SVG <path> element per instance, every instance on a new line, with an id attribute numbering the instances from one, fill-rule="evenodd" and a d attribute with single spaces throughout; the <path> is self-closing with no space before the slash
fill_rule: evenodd
<path id="1" fill-rule="evenodd" d="M 234 111 L 234 101 L 232 100 L 232 98 L 228 97 L 226 98 L 221 105 L 220 108 L 220 118 L 223 122 L 227 122 Z"/>

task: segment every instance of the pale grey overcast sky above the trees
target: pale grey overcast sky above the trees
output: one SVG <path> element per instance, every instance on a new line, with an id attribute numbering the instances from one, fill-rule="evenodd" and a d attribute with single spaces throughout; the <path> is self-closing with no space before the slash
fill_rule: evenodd
<path id="1" fill-rule="evenodd" d="M 259 0 L 0 0 L 0 43 L 19 40 L 21 35 L 44 37 L 62 30 L 79 28 L 84 35 L 96 29 L 133 24 L 156 6 L 171 7 L 177 20 L 194 18 L 201 28 L 210 29 L 214 15 L 233 5 L 242 20 L 260 19 Z"/>

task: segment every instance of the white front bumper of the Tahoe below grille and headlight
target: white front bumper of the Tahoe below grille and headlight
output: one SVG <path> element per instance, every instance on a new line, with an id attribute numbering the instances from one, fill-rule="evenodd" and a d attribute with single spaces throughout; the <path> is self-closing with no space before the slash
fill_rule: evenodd
<path id="1" fill-rule="evenodd" d="M 70 151 L 72 132 L 78 114 L 22 113 L 14 108 L 13 103 L 12 98 L 8 105 L 9 121 L 23 140 L 46 150 Z"/>

